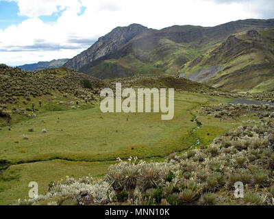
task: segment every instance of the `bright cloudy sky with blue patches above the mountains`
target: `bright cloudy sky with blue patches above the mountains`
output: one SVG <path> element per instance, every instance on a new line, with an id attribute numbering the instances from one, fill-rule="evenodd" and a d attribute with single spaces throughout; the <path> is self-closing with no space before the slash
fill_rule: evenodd
<path id="1" fill-rule="evenodd" d="M 212 27 L 274 18 L 273 0 L 0 0 L 0 63 L 71 58 L 118 26 Z"/>

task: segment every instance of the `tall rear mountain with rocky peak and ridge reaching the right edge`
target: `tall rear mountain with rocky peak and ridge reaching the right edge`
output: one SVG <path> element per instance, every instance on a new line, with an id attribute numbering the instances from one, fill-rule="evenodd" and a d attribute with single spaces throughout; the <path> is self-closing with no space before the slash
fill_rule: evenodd
<path id="1" fill-rule="evenodd" d="M 127 31 L 130 27 L 119 28 Z M 117 29 L 114 29 L 103 38 L 114 41 L 115 47 L 109 47 L 100 38 L 88 51 L 74 57 L 65 66 L 101 79 L 133 75 L 178 75 L 184 73 L 184 64 L 219 47 L 229 36 L 251 29 L 260 31 L 274 28 L 274 20 L 248 19 L 216 27 L 175 25 L 160 30 L 138 27 L 140 31 L 136 31 L 135 36 L 131 35 L 128 41 L 123 40 L 123 43 L 120 39 L 124 31 L 117 35 Z M 84 65 L 69 64 L 75 60 L 81 60 Z"/>

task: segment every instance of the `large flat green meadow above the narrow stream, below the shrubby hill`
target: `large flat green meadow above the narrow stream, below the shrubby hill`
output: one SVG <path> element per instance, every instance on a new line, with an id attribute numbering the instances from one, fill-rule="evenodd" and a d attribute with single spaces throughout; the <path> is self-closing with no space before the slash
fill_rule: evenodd
<path id="1" fill-rule="evenodd" d="M 176 99 L 175 118 L 168 121 L 160 120 L 157 113 L 103 114 L 99 105 L 88 110 L 47 112 L 13 125 L 10 131 L 3 128 L 0 159 L 12 163 L 56 158 L 95 162 L 129 155 L 164 156 L 186 149 L 193 143 L 188 133 L 195 127 L 186 111 L 206 99 L 197 94 L 177 95 Z M 34 132 L 30 133 L 31 128 Z M 28 140 L 23 139 L 24 134 Z"/>

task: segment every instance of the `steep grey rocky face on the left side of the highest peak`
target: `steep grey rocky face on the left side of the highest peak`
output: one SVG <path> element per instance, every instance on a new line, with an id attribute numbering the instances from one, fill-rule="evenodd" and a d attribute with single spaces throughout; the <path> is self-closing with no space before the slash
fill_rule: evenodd
<path id="1" fill-rule="evenodd" d="M 89 49 L 66 62 L 64 66 L 79 70 L 99 57 L 114 53 L 129 42 L 129 40 L 132 40 L 134 36 L 137 36 L 146 29 L 147 27 L 138 24 L 132 24 L 128 27 L 116 27 L 109 34 L 99 38 Z"/>

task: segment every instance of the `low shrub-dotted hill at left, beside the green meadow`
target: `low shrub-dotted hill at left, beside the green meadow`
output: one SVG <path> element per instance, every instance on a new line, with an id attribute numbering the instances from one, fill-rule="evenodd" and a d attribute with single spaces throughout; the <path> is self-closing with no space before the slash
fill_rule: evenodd
<path id="1" fill-rule="evenodd" d="M 0 64 L 0 126 L 37 114 L 88 107 L 105 82 L 65 67 L 34 72 Z M 73 101 L 73 105 L 71 105 Z"/>

